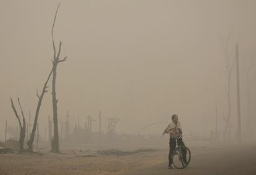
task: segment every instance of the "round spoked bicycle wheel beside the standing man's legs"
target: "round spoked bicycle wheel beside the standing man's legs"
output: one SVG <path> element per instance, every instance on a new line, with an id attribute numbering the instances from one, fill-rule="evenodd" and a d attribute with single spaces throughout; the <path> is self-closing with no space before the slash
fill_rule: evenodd
<path id="1" fill-rule="evenodd" d="M 171 157 L 173 159 L 173 165 L 178 169 L 182 169 L 189 165 L 191 153 L 186 146 L 178 146 L 174 149 Z"/>

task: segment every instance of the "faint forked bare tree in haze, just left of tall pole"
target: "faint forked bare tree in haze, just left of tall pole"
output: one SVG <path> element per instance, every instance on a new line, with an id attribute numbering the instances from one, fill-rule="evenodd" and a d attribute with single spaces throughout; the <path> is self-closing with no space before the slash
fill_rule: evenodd
<path id="1" fill-rule="evenodd" d="M 221 39 L 221 46 L 224 53 L 224 60 L 226 62 L 226 70 L 228 71 L 228 89 L 226 89 L 227 97 L 228 97 L 228 116 L 224 116 L 225 128 L 224 128 L 224 140 L 229 139 L 231 137 L 231 76 L 235 65 L 234 59 L 234 48 L 229 48 L 229 40 L 230 34 L 226 40 Z"/>

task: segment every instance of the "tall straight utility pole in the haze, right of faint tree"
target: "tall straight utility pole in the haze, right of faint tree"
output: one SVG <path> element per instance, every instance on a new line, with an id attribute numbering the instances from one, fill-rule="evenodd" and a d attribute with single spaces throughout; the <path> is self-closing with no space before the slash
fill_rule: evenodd
<path id="1" fill-rule="evenodd" d="M 238 128 L 238 142 L 241 142 L 242 141 L 242 134 L 241 134 L 241 104 L 240 104 L 238 43 L 236 44 L 236 84 L 237 84 L 237 128 Z"/>

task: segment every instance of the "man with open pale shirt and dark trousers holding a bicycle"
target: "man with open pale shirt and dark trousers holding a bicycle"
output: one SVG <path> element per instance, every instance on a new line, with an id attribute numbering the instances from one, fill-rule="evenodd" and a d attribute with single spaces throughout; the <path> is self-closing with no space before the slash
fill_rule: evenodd
<path id="1" fill-rule="evenodd" d="M 179 123 L 179 118 L 177 114 L 174 114 L 171 116 L 172 123 L 168 124 L 167 128 L 164 130 L 163 135 L 165 133 L 170 134 L 169 139 L 169 165 L 168 168 L 171 168 L 171 165 L 173 163 L 173 159 L 171 158 L 171 153 L 173 153 L 174 149 L 176 148 L 176 139 L 177 139 L 177 145 L 184 145 L 184 142 L 182 141 L 182 129 L 181 129 L 181 123 Z M 162 135 L 162 136 L 163 136 Z M 183 155 L 187 155 L 187 150 L 182 150 Z M 186 162 L 186 157 L 183 159 L 184 162 Z"/>

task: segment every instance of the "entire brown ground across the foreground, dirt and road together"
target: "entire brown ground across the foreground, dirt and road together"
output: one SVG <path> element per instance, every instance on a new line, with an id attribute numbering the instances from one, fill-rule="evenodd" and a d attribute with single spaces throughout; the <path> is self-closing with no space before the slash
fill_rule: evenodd
<path id="1" fill-rule="evenodd" d="M 168 169 L 168 149 L 102 155 L 97 150 L 47 149 L 0 155 L 0 174 L 256 174 L 256 144 L 187 143 L 192 160 L 185 169 Z M 121 152 L 122 153 L 122 152 Z"/>

